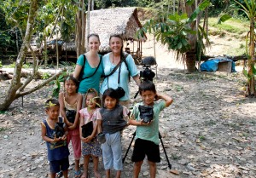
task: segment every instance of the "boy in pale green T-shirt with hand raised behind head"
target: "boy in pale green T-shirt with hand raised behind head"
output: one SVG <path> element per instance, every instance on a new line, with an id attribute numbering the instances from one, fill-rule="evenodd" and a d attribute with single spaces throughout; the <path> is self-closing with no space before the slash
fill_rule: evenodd
<path id="1" fill-rule="evenodd" d="M 131 157 L 131 161 L 135 162 L 133 177 L 138 177 L 143 160 L 147 155 L 150 177 L 154 178 L 156 163 L 160 162 L 159 114 L 164 108 L 172 104 L 172 98 L 156 93 L 154 83 L 149 80 L 140 84 L 139 94 L 143 102 L 137 103 L 133 107 L 129 120 L 131 125 L 137 126 L 136 141 Z M 164 101 L 154 101 L 159 99 Z"/>

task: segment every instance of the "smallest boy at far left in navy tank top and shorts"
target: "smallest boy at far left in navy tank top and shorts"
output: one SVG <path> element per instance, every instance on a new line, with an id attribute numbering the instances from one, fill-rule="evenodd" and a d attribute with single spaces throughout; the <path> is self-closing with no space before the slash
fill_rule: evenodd
<path id="1" fill-rule="evenodd" d="M 48 115 L 41 123 L 41 135 L 48 150 L 50 177 L 55 178 L 56 173 L 62 171 L 67 178 L 69 167 L 67 147 L 67 127 L 59 117 L 60 103 L 58 100 L 49 99 L 45 102 L 45 112 Z"/>

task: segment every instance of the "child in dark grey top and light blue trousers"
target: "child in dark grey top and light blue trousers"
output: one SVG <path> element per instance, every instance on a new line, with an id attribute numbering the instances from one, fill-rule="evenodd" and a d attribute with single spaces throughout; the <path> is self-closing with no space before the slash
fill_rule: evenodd
<path id="1" fill-rule="evenodd" d="M 121 131 L 127 126 L 129 110 L 119 105 L 119 95 L 114 89 L 106 89 L 102 95 L 103 107 L 97 119 L 99 135 L 104 135 L 102 156 L 106 178 L 110 178 L 110 169 L 116 170 L 116 178 L 123 169 Z"/>

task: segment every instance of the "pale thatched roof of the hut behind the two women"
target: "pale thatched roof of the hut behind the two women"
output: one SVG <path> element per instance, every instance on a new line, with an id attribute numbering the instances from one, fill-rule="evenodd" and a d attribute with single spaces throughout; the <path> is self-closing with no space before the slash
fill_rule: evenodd
<path id="1" fill-rule="evenodd" d="M 138 41 L 135 34 L 141 27 L 137 18 L 137 8 L 101 9 L 90 12 L 90 33 L 97 33 L 100 36 L 100 51 L 109 50 L 111 34 L 120 34 L 126 41 Z M 146 36 L 140 40 L 145 41 Z"/>

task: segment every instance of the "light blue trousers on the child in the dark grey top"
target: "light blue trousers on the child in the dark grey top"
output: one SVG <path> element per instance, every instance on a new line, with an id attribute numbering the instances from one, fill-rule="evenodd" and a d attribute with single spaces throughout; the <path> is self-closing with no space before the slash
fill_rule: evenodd
<path id="1" fill-rule="evenodd" d="M 102 156 L 104 169 L 122 170 L 122 144 L 121 134 L 116 132 L 113 134 L 106 134 L 106 142 L 102 144 Z"/>

